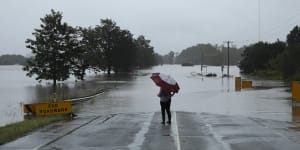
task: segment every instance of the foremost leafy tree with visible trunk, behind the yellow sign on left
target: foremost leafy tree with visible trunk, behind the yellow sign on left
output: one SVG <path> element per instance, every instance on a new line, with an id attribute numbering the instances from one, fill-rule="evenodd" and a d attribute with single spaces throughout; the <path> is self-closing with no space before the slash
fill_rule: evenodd
<path id="1" fill-rule="evenodd" d="M 31 49 L 33 59 L 23 68 L 27 76 L 36 76 L 36 80 L 64 81 L 72 73 L 72 65 L 78 59 L 78 37 L 76 30 L 62 23 L 62 13 L 51 10 L 41 18 L 40 29 L 32 33 L 34 39 L 27 39 L 27 48 Z"/>

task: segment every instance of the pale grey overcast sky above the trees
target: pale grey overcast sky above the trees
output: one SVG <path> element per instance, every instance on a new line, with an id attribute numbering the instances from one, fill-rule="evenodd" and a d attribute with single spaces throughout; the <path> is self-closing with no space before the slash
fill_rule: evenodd
<path id="1" fill-rule="evenodd" d="M 285 41 L 300 24 L 300 0 L 1 0 L 0 55 L 30 54 L 25 40 L 51 9 L 74 27 L 110 18 L 163 55 L 198 43 Z"/>

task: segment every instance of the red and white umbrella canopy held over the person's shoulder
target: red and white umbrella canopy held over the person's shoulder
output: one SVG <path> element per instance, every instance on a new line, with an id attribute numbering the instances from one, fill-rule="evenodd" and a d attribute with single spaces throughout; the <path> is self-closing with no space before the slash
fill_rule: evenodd
<path id="1" fill-rule="evenodd" d="M 178 93 L 180 89 L 177 82 L 169 75 L 152 73 L 151 79 L 157 86 L 166 91 Z"/>

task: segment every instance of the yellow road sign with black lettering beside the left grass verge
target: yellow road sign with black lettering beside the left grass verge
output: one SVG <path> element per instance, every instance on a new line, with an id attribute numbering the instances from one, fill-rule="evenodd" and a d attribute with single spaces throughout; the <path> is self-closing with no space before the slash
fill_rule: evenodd
<path id="1" fill-rule="evenodd" d="M 68 114 L 68 113 L 72 113 L 72 104 L 71 102 L 64 102 L 64 101 L 24 104 L 24 113 L 32 113 L 36 116 Z"/>

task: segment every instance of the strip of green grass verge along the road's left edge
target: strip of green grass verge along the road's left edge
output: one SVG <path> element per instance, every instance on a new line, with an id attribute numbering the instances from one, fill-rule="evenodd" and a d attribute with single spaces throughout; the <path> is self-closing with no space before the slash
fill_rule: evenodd
<path id="1" fill-rule="evenodd" d="M 69 115 L 51 115 L 44 117 L 32 117 L 24 121 L 0 127 L 0 145 L 22 137 L 29 132 L 48 125 L 52 122 L 69 119 Z"/>

